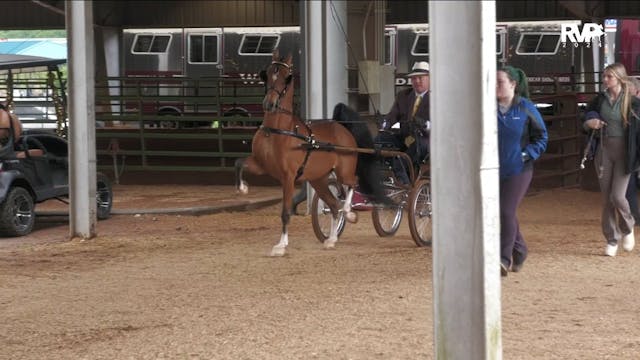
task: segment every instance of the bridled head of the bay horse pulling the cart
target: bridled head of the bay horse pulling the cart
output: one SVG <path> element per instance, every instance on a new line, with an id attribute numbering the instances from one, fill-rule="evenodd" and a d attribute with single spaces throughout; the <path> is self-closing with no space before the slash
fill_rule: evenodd
<path id="1" fill-rule="evenodd" d="M 280 58 L 278 50 L 274 51 L 271 64 L 266 70 L 260 72 L 260 77 L 267 88 L 262 107 L 266 112 L 276 112 L 281 109 L 282 100 L 287 95 L 287 92 L 293 91 L 293 85 L 291 85 L 293 80 L 291 55 L 286 58 Z M 293 98 L 291 97 L 291 99 Z M 288 109 L 286 110 L 291 111 L 292 105 L 287 104 Z"/>

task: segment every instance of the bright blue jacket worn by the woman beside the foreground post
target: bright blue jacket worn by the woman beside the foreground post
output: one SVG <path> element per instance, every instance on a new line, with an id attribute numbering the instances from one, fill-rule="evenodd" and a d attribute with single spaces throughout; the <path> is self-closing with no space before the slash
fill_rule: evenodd
<path id="1" fill-rule="evenodd" d="M 533 168 L 547 148 L 547 127 L 531 100 L 516 96 L 509 111 L 498 111 L 498 156 L 500 179 Z"/>

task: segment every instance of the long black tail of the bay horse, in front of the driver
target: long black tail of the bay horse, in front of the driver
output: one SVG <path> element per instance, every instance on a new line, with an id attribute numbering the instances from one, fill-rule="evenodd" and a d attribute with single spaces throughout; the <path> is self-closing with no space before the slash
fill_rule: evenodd
<path id="1" fill-rule="evenodd" d="M 360 115 L 355 110 L 343 103 L 339 103 L 333 109 L 333 120 L 339 122 L 351 132 L 358 147 L 374 148 L 371 131 L 366 122 L 360 120 Z M 359 191 L 370 195 L 374 202 L 391 203 L 382 186 L 380 161 L 376 155 L 358 153 L 356 174 L 358 175 Z"/>

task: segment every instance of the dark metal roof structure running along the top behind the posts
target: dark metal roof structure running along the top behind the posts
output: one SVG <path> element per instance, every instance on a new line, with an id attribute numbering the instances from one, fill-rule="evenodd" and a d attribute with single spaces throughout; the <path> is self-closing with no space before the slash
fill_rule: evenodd
<path id="1" fill-rule="evenodd" d="M 349 11 L 370 1 L 349 0 Z M 10 0 L 2 2 L 0 29 L 63 29 L 65 1 Z M 93 2 L 97 26 L 209 27 L 292 26 L 299 24 L 299 0 L 165 0 Z M 427 1 L 386 1 L 387 23 L 426 22 Z M 497 0 L 497 21 L 577 19 L 603 22 L 606 18 L 640 17 L 640 1 L 625 0 Z"/>

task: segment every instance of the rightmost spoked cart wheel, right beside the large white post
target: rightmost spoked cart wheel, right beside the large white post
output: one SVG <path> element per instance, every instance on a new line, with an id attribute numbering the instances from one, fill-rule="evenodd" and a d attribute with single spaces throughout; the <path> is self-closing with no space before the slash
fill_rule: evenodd
<path id="1" fill-rule="evenodd" d="M 418 246 L 431 245 L 432 209 L 429 180 L 420 180 L 409 195 L 409 230 L 413 241 Z"/>

